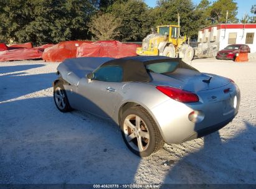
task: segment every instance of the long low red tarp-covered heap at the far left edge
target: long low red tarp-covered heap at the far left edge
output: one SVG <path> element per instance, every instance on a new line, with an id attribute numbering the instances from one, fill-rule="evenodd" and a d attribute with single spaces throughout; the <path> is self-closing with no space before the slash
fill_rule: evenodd
<path id="1" fill-rule="evenodd" d="M 42 58 L 42 50 L 38 48 L 19 48 L 0 52 L 0 61 L 31 60 Z"/>

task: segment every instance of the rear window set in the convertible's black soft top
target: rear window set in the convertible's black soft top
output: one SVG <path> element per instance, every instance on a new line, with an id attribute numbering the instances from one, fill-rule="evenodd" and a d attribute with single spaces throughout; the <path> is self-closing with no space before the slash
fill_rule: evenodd
<path id="1" fill-rule="evenodd" d="M 171 73 L 178 67 L 179 62 L 158 62 L 146 65 L 146 69 L 154 73 Z"/>

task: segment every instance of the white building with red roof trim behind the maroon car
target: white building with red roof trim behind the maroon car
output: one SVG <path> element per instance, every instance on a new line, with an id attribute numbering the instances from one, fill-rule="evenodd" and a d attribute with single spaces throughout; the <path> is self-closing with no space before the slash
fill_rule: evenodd
<path id="1" fill-rule="evenodd" d="M 196 55 L 215 57 L 217 52 L 230 44 L 247 44 L 256 52 L 256 24 L 218 24 L 198 32 Z"/>

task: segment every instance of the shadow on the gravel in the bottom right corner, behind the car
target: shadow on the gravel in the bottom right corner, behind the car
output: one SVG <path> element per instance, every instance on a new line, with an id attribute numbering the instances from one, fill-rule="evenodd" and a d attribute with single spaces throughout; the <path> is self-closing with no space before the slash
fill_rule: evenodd
<path id="1" fill-rule="evenodd" d="M 246 129 L 227 141 L 219 132 L 204 137 L 202 149 L 187 154 L 169 169 L 164 183 L 252 183 L 255 184 L 255 125 L 245 121 Z M 227 129 L 224 127 L 224 129 Z"/>

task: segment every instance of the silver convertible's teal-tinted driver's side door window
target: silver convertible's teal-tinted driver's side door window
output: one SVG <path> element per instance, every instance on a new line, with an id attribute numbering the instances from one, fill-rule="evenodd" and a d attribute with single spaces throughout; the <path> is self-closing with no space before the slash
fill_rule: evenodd
<path id="1" fill-rule="evenodd" d="M 123 69 L 115 65 L 100 67 L 93 73 L 93 80 L 108 82 L 120 82 L 123 80 Z"/>

